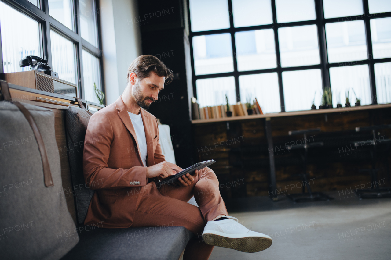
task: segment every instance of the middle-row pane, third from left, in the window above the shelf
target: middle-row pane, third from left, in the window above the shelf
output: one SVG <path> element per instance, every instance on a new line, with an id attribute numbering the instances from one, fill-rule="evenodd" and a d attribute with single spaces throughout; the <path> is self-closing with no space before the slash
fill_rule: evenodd
<path id="1" fill-rule="evenodd" d="M 278 28 L 282 67 L 319 64 L 316 25 Z"/>

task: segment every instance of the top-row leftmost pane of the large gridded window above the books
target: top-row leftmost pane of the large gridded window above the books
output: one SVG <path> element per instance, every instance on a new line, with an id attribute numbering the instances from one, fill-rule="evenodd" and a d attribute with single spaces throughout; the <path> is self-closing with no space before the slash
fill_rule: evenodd
<path id="1" fill-rule="evenodd" d="M 230 28 L 227 0 L 190 0 L 192 32 Z"/>

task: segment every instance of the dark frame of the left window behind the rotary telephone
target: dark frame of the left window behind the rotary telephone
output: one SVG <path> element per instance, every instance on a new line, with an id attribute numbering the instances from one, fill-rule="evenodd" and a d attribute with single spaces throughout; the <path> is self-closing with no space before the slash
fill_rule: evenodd
<path id="1" fill-rule="evenodd" d="M 77 63 L 77 97 L 85 99 L 84 94 L 84 77 L 83 77 L 83 59 L 82 50 L 90 52 L 92 55 L 99 59 L 100 67 L 100 85 L 102 91 L 105 92 L 104 80 L 103 80 L 103 59 L 102 59 L 102 40 L 100 34 L 100 16 L 99 16 L 99 1 L 93 0 L 95 4 L 95 15 L 96 15 L 96 28 L 98 37 L 98 47 L 95 47 L 85 39 L 81 37 L 80 30 L 80 15 L 79 15 L 79 0 L 73 0 L 73 11 L 74 11 L 74 31 L 66 27 L 52 16 L 49 16 L 49 4 L 48 0 L 38 0 L 39 7 L 30 3 L 27 0 L 2 0 L 5 4 L 10 5 L 17 11 L 29 16 L 30 18 L 38 21 L 40 25 L 40 37 L 42 44 L 42 55 L 48 64 L 52 66 L 52 49 L 50 42 L 50 30 L 54 30 L 61 36 L 65 37 L 76 46 L 76 63 Z M 15 32 L 17 33 L 17 32 Z M 0 28 L 0 62 L 3 64 L 2 55 L 2 41 L 1 41 L 1 28 Z M 0 73 L 4 73 L 3 65 L 0 66 Z M 90 100 L 88 100 L 90 101 Z"/>

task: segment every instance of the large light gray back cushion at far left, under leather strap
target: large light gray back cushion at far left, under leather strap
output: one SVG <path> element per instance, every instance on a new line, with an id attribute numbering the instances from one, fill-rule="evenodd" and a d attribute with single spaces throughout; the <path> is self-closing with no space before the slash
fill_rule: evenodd
<path id="1" fill-rule="evenodd" d="M 0 252 L 2 259 L 60 259 L 77 244 L 62 192 L 52 110 L 23 104 L 43 137 L 54 186 L 45 187 L 41 155 L 22 112 L 0 102 Z M 72 239 L 61 241 L 62 236 Z"/>

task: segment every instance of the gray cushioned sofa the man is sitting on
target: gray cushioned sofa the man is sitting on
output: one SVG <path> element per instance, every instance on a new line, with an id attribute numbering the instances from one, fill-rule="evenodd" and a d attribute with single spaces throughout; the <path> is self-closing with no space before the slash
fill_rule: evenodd
<path id="1" fill-rule="evenodd" d="M 1 84 L 4 92 L 7 85 Z M 68 176 L 64 170 L 68 166 L 62 163 L 64 157 L 60 158 L 59 154 L 62 148 L 57 147 L 61 137 L 55 131 L 54 112 L 48 108 L 23 105 L 42 135 L 54 184 L 45 183 L 44 160 L 32 126 L 18 106 L 0 101 L 0 141 L 3 144 L 0 182 L 4 185 L 0 190 L 0 196 L 4 197 L 0 199 L 0 251 L 4 259 L 181 258 L 187 242 L 194 237 L 184 227 L 106 229 L 99 223 L 83 225 L 94 192 L 84 185 L 83 146 L 79 147 L 79 152 L 68 153 L 71 173 Z M 84 141 L 89 117 L 81 108 L 68 108 L 64 122 L 68 148 Z M 61 122 L 57 121 L 58 124 Z M 68 186 L 64 183 L 69 179 L 72 180 L 73 191 L 69 192 L 73 194 L 74 203 L 68 203 L 72 198 L 66 199 Z M 194 198 L 189 203 L 196 205 Z"/>

